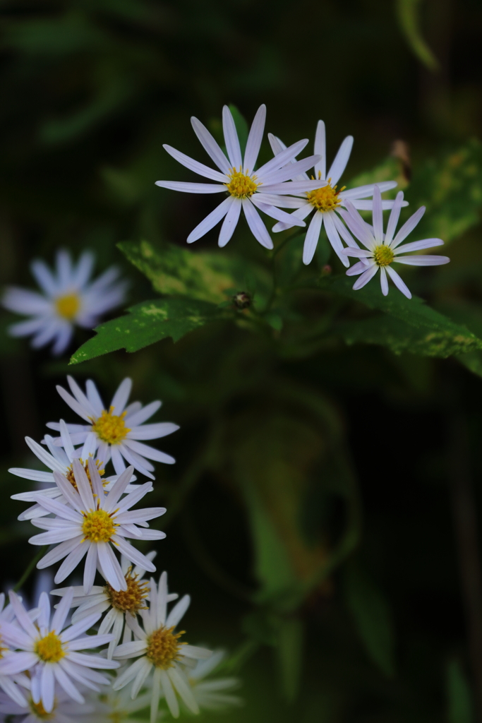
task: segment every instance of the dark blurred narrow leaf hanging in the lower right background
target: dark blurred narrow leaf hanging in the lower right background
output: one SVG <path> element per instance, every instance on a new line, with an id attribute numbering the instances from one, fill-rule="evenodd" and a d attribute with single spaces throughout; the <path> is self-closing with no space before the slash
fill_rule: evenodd
<path id="1" fill-rule="evenodd" d="M 356 565 L 345 570 L 345 599 L 371 660 L 388 677 L 395 674 L 395 635 L 390 608 L 381 591 Z"/>

